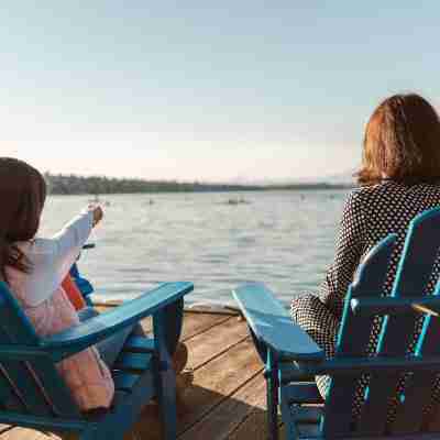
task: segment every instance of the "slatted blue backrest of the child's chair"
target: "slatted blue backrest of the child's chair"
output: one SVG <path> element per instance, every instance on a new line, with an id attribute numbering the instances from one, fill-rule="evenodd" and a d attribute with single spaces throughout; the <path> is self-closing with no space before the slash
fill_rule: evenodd
<path id="1" fill-rule="evenodd" d="M 54 362 L 8 285 L 0 282 L 0 411 L 80 416 Z M 3 414 L 4 416 L 4 414 Z"/>

